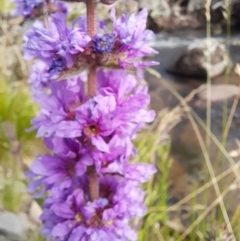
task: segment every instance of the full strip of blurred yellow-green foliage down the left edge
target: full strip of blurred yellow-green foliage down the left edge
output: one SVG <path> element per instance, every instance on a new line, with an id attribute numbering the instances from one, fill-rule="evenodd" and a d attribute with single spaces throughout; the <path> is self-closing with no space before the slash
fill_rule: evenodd
<path id="1" fill-rule="evenodd" d="M 23 157 L 35 139 L 26 129 L 35 112 L 24 83 L 0 78 L 0 205 L 12 212 L 19 211 L 26 194 Z"/>

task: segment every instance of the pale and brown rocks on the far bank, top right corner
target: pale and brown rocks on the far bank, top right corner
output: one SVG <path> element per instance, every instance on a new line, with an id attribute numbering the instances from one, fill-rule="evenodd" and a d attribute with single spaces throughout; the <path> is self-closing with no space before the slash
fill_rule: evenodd
<path id="1" fill-rule="evenodd" d="M 128 2 L 128 1 L 127 1 Z M 148 8 L 148 26 L 151 30 L 176 30 L 179 28 L 205 29 L 206 0 L 138 0 L 140 9 Z M 225 26 L 224 9 L 226 1 L 210 0 L 211 23 Z M 238 27 L 240 23 L 240 1 L 229 0 L 231 8 L 231 25 Z"/>

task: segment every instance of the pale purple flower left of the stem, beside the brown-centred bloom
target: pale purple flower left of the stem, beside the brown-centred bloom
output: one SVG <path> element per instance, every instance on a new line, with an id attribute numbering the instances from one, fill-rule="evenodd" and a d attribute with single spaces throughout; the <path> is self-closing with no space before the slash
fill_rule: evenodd
<path id="1" fill-rule="evenodd" d="M 34 100 L 42 107 L 38 117 L 32 120 L 37 136 L 81 136 L 81 125 L 76 121 L 76 109 L 84 101 L 84 84 L 80 77 L 51 83 L 50 95 L 43 91 L 34 94 Z M 65 129 L 66 126 L 67 128 Z M 31 129 L 30 129 L 31 130 Z"/>

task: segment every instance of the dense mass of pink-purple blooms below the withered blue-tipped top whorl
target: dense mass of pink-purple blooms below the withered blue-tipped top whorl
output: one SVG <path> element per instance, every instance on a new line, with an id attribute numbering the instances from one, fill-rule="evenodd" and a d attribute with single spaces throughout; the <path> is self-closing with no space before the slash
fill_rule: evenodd
<path id="1" fill-rule="evenodd" d="M 145 212 L 138 186 L 155 169 L 129 159 L 136 153 L 131 139 L 154 118 L 146 110 L 147 89 L 121 70 L 100 70 L 97 81 L 93 98 L 86 96 L 80 77 L 48 83 L 50 94 L 34 94 L 41 110 L 33 128 L 54 154 L 33 163 L 29 191 L 36 197 L 50 191 L 41 219 L 44 235 L 54 240 L 136 240 L 128 223 Z M 100 177 L 100 196 L 91 202 L 92 166 Z"/>

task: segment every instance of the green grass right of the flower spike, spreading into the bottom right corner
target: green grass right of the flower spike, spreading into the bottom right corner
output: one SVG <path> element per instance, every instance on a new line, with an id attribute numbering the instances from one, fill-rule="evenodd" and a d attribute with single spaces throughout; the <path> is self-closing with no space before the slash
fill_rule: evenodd
<path id="1" fill-rule="evenodd" d="M 209 237 L 214 237 L 214 239 L 211 239 L 213 241 L 223 241 L 224 239 L 221 239 L 223 235 L 232 237 L 226 228 L 223 230 L 224 232 L 221 231 L 225 222 L 221 215 L 221 210 L 219 214 L 216 215 L 219 209 L 218 205 L 212 209 L 212 213 L 215 213 L 214 216 L 206 215 L 196 226 L 191 227 L 196 221 L 196 212 L 198 217 L 204 214 L 205 211 L 203 208 L 196 208 L 198 206 L 198 200 L 196 194 L 194 194 L 192 198 L 190 198 L 190 202 L 188 202 L 189 210 L 191 210 L 188 217 L 191 231 L 186 238 L 182 239 L 183 233 L 178 230 L 178 224 L 174 224 L 174 221 L 170 218 L 170 213 L 172 211 L 174 212 L 174 210 L 181 210 L 179 209 L 181 206 L 170 206 L 168 203 L 170 198 L 169 185 L 171 184 L 169 173 L 173 163 L 169 156 L 170 141 L 159 143 L 158 134 L 146 132 L 139 135 L 139 138 L 136 140 L 136 146 L 139 150 L 139 155 L 135 161 L 140 159 L 141 161 L 153 163 L 158 169 L 155 177 L 144 186 L 146 190 L 145 204 L 148 212 L 141 222 L 138 241 L 208 241 Z M 209 193 L 206 193 L 206 195 L 209 195 Z M 207 204 L 208 198 L 209 196 L 206 196 L 203 202 Z M 231 220 L 231 225 L 237 238 L 240 238 L 239 220 L 240 207 L 236 210 Z M 212 229 L 216 229 L 216 232 L 212 233 Z M 229 239 L 229 241 L 230 240 L 233 239 Z"/>

